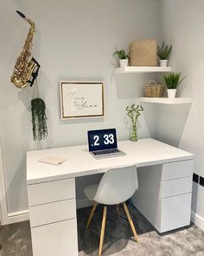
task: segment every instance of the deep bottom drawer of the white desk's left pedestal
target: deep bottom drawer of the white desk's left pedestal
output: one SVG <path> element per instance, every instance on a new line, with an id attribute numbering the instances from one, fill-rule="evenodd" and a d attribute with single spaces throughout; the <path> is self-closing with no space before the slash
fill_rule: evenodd
<path id="1" fill-rule="evenodd" d="M 33 227 L 31 235 L 35 256 L 78 256 L 76 219 Z"/>

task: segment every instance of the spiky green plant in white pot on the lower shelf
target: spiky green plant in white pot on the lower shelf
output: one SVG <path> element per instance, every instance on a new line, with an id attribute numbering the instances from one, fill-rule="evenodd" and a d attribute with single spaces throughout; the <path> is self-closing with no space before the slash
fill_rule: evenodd
<path id="1" fill-rule="evenodd" d="M 169 98 L 175 98 L 176 89 L 180 85 L 180 83 L 183 81 L 185 77 L 181 79 L 181 73 L 169 73 L 166 75 L 163 75 L 163 82 L 167 87 L 167 93 Z"/>

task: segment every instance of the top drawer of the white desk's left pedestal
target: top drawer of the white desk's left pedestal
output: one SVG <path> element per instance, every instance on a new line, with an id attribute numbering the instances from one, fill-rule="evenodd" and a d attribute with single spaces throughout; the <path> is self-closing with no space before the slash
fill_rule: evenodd
<path id="1" fill-rule="evenodd" d="M 29 207 L 75 198 L 75 180 L 50 181 L 28 186 Z"/>

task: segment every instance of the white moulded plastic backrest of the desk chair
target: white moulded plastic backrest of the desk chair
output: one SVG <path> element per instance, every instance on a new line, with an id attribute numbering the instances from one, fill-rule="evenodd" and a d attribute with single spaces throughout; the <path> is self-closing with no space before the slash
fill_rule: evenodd
<path id="1" fill-rule="evenodd" d="M 138 188 L 137 167 L 117 167 L 102 177 L 93 200 L 105 205 L 116 205 L 131 198 Z"/>

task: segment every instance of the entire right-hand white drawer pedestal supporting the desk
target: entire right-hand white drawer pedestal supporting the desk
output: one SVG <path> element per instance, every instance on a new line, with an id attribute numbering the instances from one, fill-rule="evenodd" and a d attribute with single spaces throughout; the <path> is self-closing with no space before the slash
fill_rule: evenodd
<path id="1" fill-rule="evenodd" d="M 191 160 L 137 169 L 132 203 L 159 233 L 190 224 L 192 172 Z"/>

